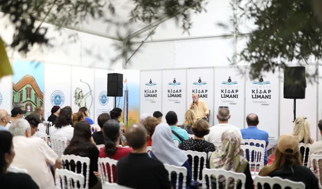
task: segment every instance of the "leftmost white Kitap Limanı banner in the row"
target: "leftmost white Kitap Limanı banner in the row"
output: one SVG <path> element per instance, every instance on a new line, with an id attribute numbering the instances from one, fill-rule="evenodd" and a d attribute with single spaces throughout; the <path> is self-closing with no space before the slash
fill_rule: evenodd
<path id="1" fill-rule="evenodd" d="M 162 71 L 140 72 L 140 112 L 153 114 L 162 110 Z M 164 116 L 165 117 L 165 116 Z"/>

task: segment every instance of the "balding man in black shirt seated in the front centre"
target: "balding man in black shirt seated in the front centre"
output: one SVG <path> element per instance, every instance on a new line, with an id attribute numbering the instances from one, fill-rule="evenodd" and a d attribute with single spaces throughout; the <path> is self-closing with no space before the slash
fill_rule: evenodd
<path id="1" fill-rule="evenodd" d="M 168 128 L 168 138 L 172 142 L 172 147 L 175 148 L 169 126 L 165 124 L 164 127 Z M 132 124 L 127 129 L 125 137 L 133 151 L 118 161 L 116 166 L 117 183 L 131 188 L 170 189 L 169 174 L 163 162 L 150 158 L 146 153 L 146 139 L 148 136 L 143 125 L 139 123 Z M 162 148 L 166 149 L 168 146 L 166 145 Z M 177 150 L 179 151 L 178 148 Z M 182 157 L 176 157 L 176 153 L 171 155 L 173 155 L 173 159 L 182 159 Z"/>

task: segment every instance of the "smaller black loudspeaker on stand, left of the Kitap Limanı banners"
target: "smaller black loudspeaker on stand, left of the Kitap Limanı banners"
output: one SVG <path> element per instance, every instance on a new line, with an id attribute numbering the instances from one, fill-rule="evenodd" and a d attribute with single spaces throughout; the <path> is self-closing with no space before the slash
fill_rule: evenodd
<path id="1" fill-rule="evenodd" d="M 107 96 L 123 96 L 123 74 L 107 74 Z"/>

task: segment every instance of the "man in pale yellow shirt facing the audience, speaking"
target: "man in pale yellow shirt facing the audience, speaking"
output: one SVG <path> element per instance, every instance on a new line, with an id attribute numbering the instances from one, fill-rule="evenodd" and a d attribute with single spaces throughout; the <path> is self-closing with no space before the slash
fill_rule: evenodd
<path id="1" fill-rule="evenodd" d="M 207 115 L 209 114 L 209 109 L 205 101 L 199 100 L 199 96 L 197 94 L 192 95 L 192 102 L 190 103 L 190 109 L 195 113 L 197 119 L 204 119 L 207 121 Z"/>

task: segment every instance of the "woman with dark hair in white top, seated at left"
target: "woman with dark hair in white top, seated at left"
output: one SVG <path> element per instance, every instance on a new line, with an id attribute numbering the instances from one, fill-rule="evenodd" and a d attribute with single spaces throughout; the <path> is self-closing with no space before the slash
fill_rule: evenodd
<path id="1" fill-rule="evenodd" d="M 71 112 L 68 109 L 62 108 L 55 122 L 55 125 L 49 128 L 50 136 L 64 137 L 67 139 L 67 144 L 69 144 L 74 134 Z"/>

